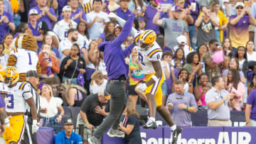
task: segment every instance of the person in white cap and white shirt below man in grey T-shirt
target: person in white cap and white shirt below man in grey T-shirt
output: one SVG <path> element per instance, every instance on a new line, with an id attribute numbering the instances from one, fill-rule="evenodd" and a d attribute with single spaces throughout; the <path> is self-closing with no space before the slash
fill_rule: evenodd
<path id="1" fill-rule="evenodd" d="M 177 43 L 178 45 L 174 46 L 174 51 L 176 51 L 178 48 L 183 48 L 184 50 L 184 55 L 185 58 L 188 55 L 188 53 L 193 52 L 193 48 L 189 47 L 188 45 L 186 45 L 186 36 L 185 35 L 179 35 L 177 38 Z"/>

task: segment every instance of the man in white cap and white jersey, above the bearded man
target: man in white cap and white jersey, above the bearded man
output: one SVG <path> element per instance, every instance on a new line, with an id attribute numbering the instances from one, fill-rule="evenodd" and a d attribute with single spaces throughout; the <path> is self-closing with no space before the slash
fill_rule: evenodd
<path id="1" fill-rule="evenodd" d="M 65 40 L 68 38 L 68 30 L 70 28 L 76 28 L 77 23 L 75 21 L 71 20 L 71 7 L 70 6 L 64 6 L 63 7 L 63 20 L 58 21 L 58 23 L 55 24 L 53 31 L 58 35 L 58 38 L 60 40 Z"/>

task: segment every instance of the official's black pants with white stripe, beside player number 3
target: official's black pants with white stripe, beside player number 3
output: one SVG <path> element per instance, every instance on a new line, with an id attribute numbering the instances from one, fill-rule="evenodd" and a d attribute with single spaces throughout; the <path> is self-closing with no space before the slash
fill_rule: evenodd
<path id="1" fill-rule="evenodd" d="M 32 116 L 28 116 L 27 125 L 26 125 L 26 129 L 25 129 L 21 144 L 37 144 L 38 143 L 36 138 L 36 133 L 32 134 L 32 124 L 33 124 Z"/>

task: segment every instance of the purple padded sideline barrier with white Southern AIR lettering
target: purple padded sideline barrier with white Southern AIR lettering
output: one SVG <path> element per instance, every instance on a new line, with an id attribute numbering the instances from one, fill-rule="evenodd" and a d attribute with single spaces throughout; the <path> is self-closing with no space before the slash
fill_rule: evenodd
<path id="1" fill-rule="evenodd" d="M 170 144 L 171 130 L 167 126 L 140 128 L 142 144 Z M 255 144 L 256 127 L 183 127 L 176 144 Z M 40 128 L 38 144 L 54 144 L 53 128 Z M 110 138 L 105 133 L 102 144 L 124 144 L 123 138 Z M 135 143 L 134 143 L 135 144 Z"/>

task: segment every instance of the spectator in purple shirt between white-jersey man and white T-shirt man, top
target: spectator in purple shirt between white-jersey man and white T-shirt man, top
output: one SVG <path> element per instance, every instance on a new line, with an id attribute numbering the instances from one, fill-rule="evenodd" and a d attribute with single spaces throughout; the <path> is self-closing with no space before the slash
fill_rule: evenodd
<path id="1" fill-rule="evenodd" d="M 86 14 L 84 11 L 78 9 L 78 0 L 68 0 L 68 5 L 71 7 L 71 16 L 70 18 L 75 21 L 75 23 L 80 23 L 83 21 L 86 23 Z M 63 19 L 63 16 L 60 16 L 60 19 Z"/>

